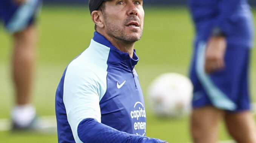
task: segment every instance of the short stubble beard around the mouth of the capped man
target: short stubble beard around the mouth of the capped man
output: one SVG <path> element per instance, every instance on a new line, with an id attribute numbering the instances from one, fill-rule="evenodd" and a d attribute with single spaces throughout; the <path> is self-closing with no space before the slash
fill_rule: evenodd
<path id="1" fill-rule="evenodd" d="M 136 16 L 131 16 L 129 18 L 127 18 L 121 26 L 119 26 L 116 23 L 111 23 L 108 19 L 108 17 L 103 14 L 104 17 L 104 21 L 105 21 L 105 25 L 106 25 L 106 33 L 109 36 L 112 36 L 120 41 L 123 41 L 125 43 L 134 43 L 136 41 L 139 41 L 140 38 L 142 37 L 142 32 L 143 32 L 143 25 L 140 26 L 140 29 L 133 29 L 131 30 L 131 34 L 126 34 L 125 33 L 125 25 L 130 22 L 130 21 L 137 21 L 138 23 L 140 23 L 139 18 L 137 18 Z M 141 24 L 141 23 L 140 23 Z"/>

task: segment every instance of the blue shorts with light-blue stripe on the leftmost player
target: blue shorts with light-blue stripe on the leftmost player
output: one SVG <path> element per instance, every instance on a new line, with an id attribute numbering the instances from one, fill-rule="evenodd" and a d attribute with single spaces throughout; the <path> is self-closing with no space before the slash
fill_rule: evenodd
<path id="1" fill-rule="evenodd" d="M 0 0 L 0 20 L 8 32 L 19 32 L 34 23 L 41 4 L 41 0 L 26 0 L 22 5 L 13 0 Z"/>

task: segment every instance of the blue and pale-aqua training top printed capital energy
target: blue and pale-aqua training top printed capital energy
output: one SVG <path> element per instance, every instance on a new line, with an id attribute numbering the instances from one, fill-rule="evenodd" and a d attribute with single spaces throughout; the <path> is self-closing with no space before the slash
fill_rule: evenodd
<path id="1" fill-rule="evenodd" d="M 146 112 L 133 58 L 94 32 L 65 69 L 56 91 L 59 143 L 163 143 L 146 135 Z"/>

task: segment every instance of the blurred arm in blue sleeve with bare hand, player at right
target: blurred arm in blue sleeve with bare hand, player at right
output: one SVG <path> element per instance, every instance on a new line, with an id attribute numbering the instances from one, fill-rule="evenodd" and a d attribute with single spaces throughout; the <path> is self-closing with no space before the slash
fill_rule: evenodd
<path id="1" fill-rule="evenodd" d="M 212 35 L 207 42 L 205 72 L 212 73 L 225 67 L 226 37 L 230 34 L 230 20 L 236 20 L 232 15 L 240 5 L 241 0 L 222 0 L 219 3 L 219 16 L 215 20 Z"/>

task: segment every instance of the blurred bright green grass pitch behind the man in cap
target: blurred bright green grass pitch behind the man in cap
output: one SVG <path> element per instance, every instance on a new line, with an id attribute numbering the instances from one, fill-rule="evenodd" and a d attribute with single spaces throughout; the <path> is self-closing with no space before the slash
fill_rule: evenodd
<path id="1" fill-rule="evenodd" d="M 254 11 L 256 16 L 256 11 Z M 256 18 L 255 18 L 256 19 Z M 94 24 L 86 7 L 44 6 L 39 18 L 40 41 L 37 50 L 37 72 L 33 103 L 39 116 L 55 114 L 55 91 L 68 63 L 85 50 L 93 37 Z M 147 88 L 157 75 L 178 72 L 187 75 L 193 40 L 193 24 L 185 7 L 145 8 L 142 39 L 136 43 L 140 57 L 136 70 L 145 95 L 147 136 L 171 143 L 190 142 L 189 119 L 159 119 L 147 104 Z M 256 23 L 256 22 L 255 22 Z M 9 118 L 13 105 L 10 57 L 10 36 L 0 27 L 0 119 Z M 256 101 L 256 50 L 251 62 L 252 98 Z M 220 125 L 219 140 L 230 140 L 224 125 Z M 53 143 L 57 134 L 0 131 L 1 143 Z"/>

